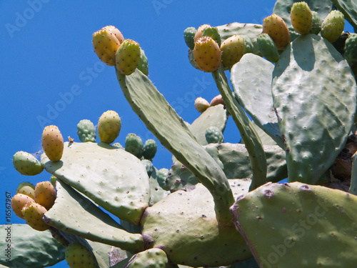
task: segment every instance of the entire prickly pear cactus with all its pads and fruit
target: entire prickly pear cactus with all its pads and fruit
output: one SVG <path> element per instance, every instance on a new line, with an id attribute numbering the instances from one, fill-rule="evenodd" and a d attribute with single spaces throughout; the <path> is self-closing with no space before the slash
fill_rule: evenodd
<path id="1" fill-rule="evenodd" d="M 174 163 L 170 170 L 154 167 L 153 139 L 144 144 L 128 134 L 124 147 L 115 143 L 121 130 L 115 111 L 106 111 L 97 129 L 80 121 L 80 142 L 64 142 L 56 126 L 46 126 L 41 161 L 16 152 L 13 163 L 26 176 L 46 169 L 51 182 L 24 182 L 11 200 L 17 216 L 43 231 L 19 224 L 17 235 L 31 234 L 46 249 L 31 259 L 34 244 L 15 261 L 355 267 L 356 145 L 347 144 L 348 164 L 340 160 L 356 132 L 357 35 L 343 32 L 345 18 L 357 29 L 356 8 L 343 0 L 278 0 L 263 25 L 187 28 L 189 61 L 212 73 L 220 93 L 211 103 L 196 99 L 201 114 L 192 124 L 150 81 L 136 41 L 114 26 L 96 31 L 94 51 L 115 66 L 127 101 Z M 230 117 L 240 144 L 224 142 Z"/>

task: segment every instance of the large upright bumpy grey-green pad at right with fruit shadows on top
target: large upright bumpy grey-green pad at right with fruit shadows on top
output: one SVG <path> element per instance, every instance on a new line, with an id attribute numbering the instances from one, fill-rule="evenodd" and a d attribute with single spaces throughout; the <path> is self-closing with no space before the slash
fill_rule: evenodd
<path id="1" fill-rule="evenodd" d="M 321 183 L 351 131 L 356 90 L 347 61 L 321 36 L 300 36 L 283 51 L 272 91 L 289 182 Z"/>

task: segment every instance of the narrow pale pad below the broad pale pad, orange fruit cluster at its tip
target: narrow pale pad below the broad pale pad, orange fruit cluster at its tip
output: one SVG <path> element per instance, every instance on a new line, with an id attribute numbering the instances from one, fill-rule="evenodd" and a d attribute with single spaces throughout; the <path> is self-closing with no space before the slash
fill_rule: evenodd
<path id="1" fill-rule="evenodd" d="M 133 252 L 143 249 L 141 234 L 124 231 L 108 214 L 60 179 L 56 188 L 56 203 L 44 216 L 48 224 L 94 242 Z"/>

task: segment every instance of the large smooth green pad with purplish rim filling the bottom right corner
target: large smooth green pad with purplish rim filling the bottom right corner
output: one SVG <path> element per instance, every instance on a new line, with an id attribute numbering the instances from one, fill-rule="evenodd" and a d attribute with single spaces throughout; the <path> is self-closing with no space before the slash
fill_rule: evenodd
<path id="1" fill-rule="evenodd" d="M 345 268 L 357 263 L 356 206 L 353 194 L 294 182 L 259 187 L 231 212 L 260 267 Z"/>

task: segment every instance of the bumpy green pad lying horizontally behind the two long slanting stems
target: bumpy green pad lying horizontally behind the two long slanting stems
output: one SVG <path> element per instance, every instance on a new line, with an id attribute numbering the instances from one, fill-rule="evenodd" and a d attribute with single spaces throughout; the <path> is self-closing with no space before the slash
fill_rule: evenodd
<path id="1" fill-rule="evenodd" d="M 246 147 L 243 144 L 208 144 L 206 150 L 223 169 L 228 179 L 251 179 L 251 165 Z M 285 152 L 277 145 L 264 146 L 268 171 L 266 182 L 279 182 L 288 177 Z M 174 192 L 189 189 L 198 183 L 197 179 L 180 162 L 175 162 L 166 179 L 167 186 Z"/>

